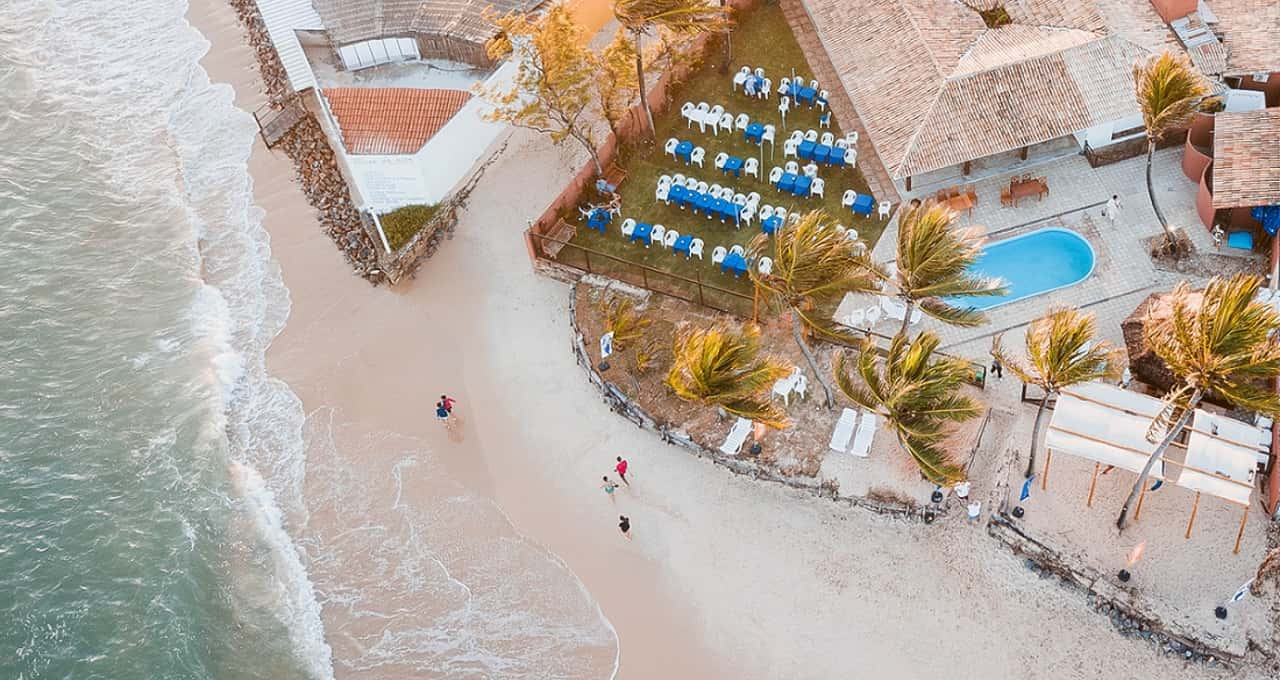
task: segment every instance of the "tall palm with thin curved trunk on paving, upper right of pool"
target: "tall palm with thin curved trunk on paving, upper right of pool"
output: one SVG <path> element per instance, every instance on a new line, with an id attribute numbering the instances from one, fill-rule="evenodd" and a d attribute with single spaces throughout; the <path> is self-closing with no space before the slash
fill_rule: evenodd
<path id="1" fill-rule="evenodd" d="M 1142 109 L 1142 124 L 1147 132 L 1147 196 L 1156 219 L 1165 229 L 1165 243 L 1176 247 L 1169 220 L 1156 201 L 1156 187 L 1151 183 L 1151 161 L 1156 158 L 1156 145 L 1175 128 L 1190 122 L 1196 106 L 1208 93 L 1208 86 L 1181 53 L 1164 51 L 1133 67 L 1134 96 Z"/>

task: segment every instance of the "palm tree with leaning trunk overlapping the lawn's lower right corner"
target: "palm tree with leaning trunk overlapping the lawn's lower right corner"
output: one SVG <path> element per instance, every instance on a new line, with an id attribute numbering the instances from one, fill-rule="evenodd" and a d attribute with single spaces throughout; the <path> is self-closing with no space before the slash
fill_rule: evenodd
<path id="1" fill-rule="evenodd" d="M 780 229 L 769 237 L 759 234 L 751 241 L 751 257 L 769 256 L 773 270 L 762 274 L 759 268 L 751 268 L 751 280 L 776 307 L 791 311 L 791 334 L 800 347 L 809 369 L 818 378 L 823 389 L 823 405 L 828 409 L 836 402 L 835 391 L 818 368 L 818 360 L 804 341 L 804 329 L 855 343 L 854 338 L 824 319 L 818 310 L 827 310 L 840 302 L 846 292 L 869 292 L 874 289 L 878 269 L 870 259 L 854 255 L 845 236 L 833 228 L 829 219 L 820 211 L 813 211 L 796 224 Z"/>

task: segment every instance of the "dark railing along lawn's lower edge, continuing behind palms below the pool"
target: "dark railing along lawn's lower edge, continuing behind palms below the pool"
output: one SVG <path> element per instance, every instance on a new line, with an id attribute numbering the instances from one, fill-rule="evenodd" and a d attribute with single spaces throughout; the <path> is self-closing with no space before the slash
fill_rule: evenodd
<path id="1" fill-rule="evenodd" d="M 561 266 L 577 269 L 579 271 L 585 271 L 588 274 L 600 274 L 614 278 L 646 291 L 653 291 L 655 293 L 684 300 L 685 302 L 732 314 L 741 319 L 751 319 L 756 311 L 756 301 L 751 295 L 707 283 L 701 279 L 701 275 L 691 279 L 573 243 L 571 239 L 575 229 L 575 225 L 564 220 L 559 220 L 556 224 L 554 236 L 540 234 L 532 229 L 529 229 L 525 233 L 529 234 L 534 247 L 538 250 L 538 257 L 556 263 Z M 872 338 L 876 344 L 876 352 L 879 356 L 888 353 L 888 344 L 893 339 L 892 336 L 886 336 L 869 329 L 859 329 L 852 333 Z M 860 348 L 858 344 L 842 342 L 838 338 L 823 337 L 822 339 L 837 347 L 846 347 L 850 350 Z M 936 353 L 938 356 L 961 359 L 963 361 L 966 361 L 973 369 L 969 371 L 969 383 L 978 388 L 987 387 L 986 364 L 978 364 L 977 361 L 964 357 L 954 357 L 952 355 L 947 355 L 945 352 Z"/>

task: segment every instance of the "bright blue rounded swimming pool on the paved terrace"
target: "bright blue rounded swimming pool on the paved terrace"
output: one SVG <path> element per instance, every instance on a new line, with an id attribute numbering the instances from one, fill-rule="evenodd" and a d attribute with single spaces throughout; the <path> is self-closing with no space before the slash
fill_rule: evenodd
<path id="1" fill-rule="evenodd" d="M 989 310 L 1075 286 L 1089 278 L 1093 273 L 1093 246 L 1069 229 L 1037 229 L 984 247 L 969 270 L 1004 279 L 1009 293 L 992 297 L 956 297 L 948 302 L 961 307 Z"/>

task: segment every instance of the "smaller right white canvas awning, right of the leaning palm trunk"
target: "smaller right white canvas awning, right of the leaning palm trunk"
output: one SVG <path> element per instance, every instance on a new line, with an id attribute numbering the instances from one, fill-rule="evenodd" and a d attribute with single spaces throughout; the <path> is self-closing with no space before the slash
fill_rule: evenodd
<path id="1" fill-rule="evenodd" d="M 1253 425 L 1197 410 L 1187 441 L 1187 466 L 1176 484 L 1248 506 L 1260 434 Z"/>

